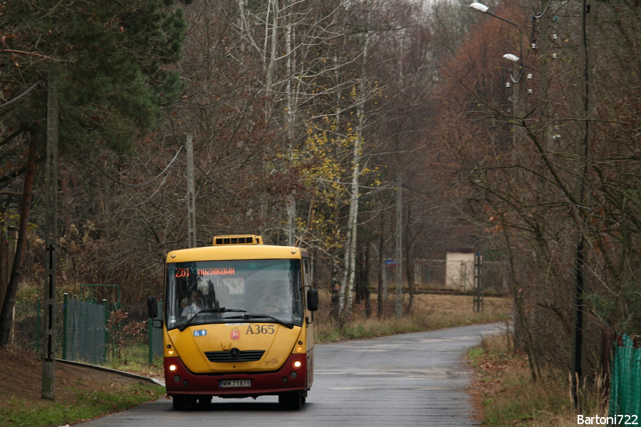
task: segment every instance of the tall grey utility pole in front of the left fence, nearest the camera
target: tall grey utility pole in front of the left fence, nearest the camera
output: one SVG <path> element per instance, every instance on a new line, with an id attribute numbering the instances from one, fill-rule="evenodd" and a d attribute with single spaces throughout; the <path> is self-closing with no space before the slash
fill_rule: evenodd
<path id="1" fill-rule="evenodd" d="M 45 226 L 45 321 L 42 398 L 56 399 L 56 258 L 58 245 L 58 68 L 49 64 Z"/>

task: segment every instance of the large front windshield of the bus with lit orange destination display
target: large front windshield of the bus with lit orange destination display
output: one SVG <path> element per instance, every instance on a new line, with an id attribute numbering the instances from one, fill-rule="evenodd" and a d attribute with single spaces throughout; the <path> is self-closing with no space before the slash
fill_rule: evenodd
<path id="1" fill-rule="evenodd" d="M 166 295 L 167 330 L 187 322 L 303 322 L 300 260 L 168 263 Z"/>

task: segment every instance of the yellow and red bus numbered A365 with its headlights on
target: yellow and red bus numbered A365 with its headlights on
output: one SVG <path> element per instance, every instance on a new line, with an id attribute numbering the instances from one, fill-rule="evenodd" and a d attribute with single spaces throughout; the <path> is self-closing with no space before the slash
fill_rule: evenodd
<path id="1" fill-rule="evenodd" d="M 174 409 L 264 395 L 301 408 L 313 383 L 318 309 L 308 251 L 216 236 L 212 246 L 167 253 L 165 267 L 164 369 Z M 156 297 L 147 307 L 156 317 Z"/>

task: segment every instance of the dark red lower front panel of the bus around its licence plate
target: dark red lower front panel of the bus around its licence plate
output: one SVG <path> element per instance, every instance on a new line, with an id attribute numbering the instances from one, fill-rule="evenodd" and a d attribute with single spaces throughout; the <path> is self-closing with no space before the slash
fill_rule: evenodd
<path id="1" fill-rule="evenodd" d="M 301 366 L 294 368 L 294 362 Z M 170 371 L 170 365 L 176 370 Z M 292 372 L 295 374 L 292 375 Z M 193 374 L 184 366 L 179 357 L 165 358 L 165 384 L 167 395 L 194 394 L 222 397 L 255 397 L 279 394 L 286 391 L 307 390 L 306 354 L 291 354 L 278 371 L 244 372 L 225 374 Z M 250 387 L 220 387 L 219 381 L 229 379 L 250 379 Z"/>

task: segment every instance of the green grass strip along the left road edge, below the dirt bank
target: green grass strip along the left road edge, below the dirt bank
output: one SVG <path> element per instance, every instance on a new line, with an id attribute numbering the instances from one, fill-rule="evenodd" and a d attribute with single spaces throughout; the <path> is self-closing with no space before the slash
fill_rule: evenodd
<path id="1" fill-rule="evenodd" d="M 44 404 L 30 405 L 16 401 L 11 396 L 9 405 L 0 408 L 0 419 L 5 427 L 41 426 L 56 427 L 78 421 L 90 420 L 107 413 L 122 411 L 147 401 L 160 399 L 165 395 L 165 387 L 136 385 L 114 390 L 80 392 L 75 394 L 75 404 L 58 404 L 47 401 Z"/>

